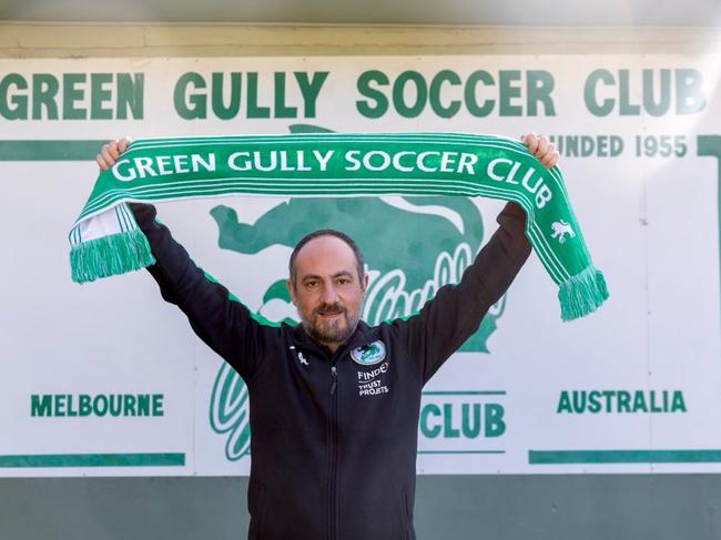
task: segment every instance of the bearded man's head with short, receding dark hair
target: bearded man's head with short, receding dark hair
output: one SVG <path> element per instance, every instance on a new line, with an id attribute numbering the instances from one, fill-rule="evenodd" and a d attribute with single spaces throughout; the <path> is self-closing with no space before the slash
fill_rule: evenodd
<path id="1" fill-rule="evenodd" d="M 301 323 L 316 342 L 335 351 L 355 330 L 368 276 L 358 278 L 357 261 L 348 244 L 318 236 L 295 259 L 295 284 L 287 286 Z"/>

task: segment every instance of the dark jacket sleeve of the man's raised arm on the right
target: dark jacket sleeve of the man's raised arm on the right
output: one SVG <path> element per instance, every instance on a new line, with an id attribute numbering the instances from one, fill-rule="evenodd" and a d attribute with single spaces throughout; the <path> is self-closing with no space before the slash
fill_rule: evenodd
<path id="1" fill-rule="evenodd" d="M 509 203 L 497 221 L 500 227 L 466 268 L 460 283 L 439 288 L 417 315 L 396 322 L 424 385 L 478 329 L 530 254 L 524 211 Z"/>

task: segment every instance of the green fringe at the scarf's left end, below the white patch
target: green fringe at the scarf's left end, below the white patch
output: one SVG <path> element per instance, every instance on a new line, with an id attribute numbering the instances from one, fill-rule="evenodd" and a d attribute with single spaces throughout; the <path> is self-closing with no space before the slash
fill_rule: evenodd
<path id="1" fill-rule="evenodd" d="M 70 249 L 72 281 L 92 282 L 155 264 L 140 228 L 82 242 Z"/>

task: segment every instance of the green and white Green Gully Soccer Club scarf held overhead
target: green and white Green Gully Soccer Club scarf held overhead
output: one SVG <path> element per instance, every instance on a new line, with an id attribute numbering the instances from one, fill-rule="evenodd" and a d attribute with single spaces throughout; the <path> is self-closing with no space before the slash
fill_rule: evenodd
<path id="1" fill-rule="evenodd" d="M 132 142 L 101 172 L 70 232 L 78 283 L 154 263 L 129 201 L 158 203 L 225 195 L 459 195 L 515 201 L 526 235 L 559 285 L 561 318 L 608 297 L 558 169 L 517 141 L 457 133 L 314 133 Z M 420 232 L 419 232 L 420 234 Z"/>

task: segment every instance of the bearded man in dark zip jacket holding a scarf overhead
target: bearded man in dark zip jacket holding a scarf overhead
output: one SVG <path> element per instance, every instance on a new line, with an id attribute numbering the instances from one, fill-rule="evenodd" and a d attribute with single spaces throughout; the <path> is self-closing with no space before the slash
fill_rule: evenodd
<path id="1" fill-rule="evenodd" d="M 524 142 L 546 166 L 558 161 L 546 137 Z M 126 144 L 104 145 L 98 164 L 112 166 Z M 311 233 L 296 245 L 287 279 L 302 323 L 277 327 L 207 279 L 153 206 L 131 208 L 163 298 L 247 385 L 248 538 L 414 539 L 420 393 L 527 259 L 522 210 L 506 205 L 458 285 L 440 288 L 418 315 L 376 327 L 358 320 L 368 276 L 355 243 L 336 231 Z"/>

